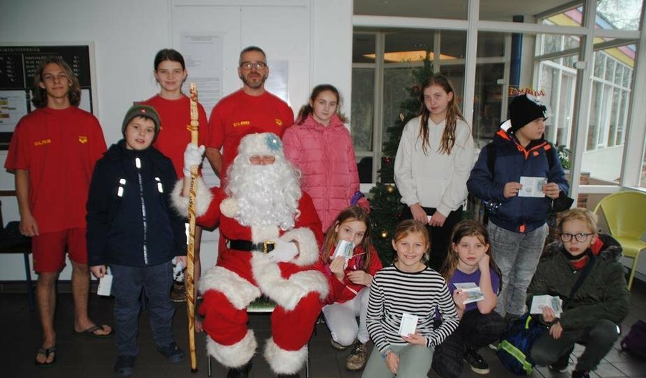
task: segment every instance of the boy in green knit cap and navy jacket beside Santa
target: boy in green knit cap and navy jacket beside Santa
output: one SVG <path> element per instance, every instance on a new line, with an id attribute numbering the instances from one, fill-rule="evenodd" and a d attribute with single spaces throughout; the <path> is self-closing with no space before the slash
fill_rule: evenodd
<path id="1" fill-rule="evenodd" d="M 123 119 L 124 138 L 96 163 L 87 203 L 88 265 L 97 278 L 109 265 L 113 280 L 117 375 L 132 375 L 142 289 L 150 303 L 157 350 L 171 363 L 184 352 L 174 342 L 170 301 L 172 262 L 185 265 L 184 219 L 169 207 L 177 180 L 171 160 L 151 146 L 160 131 L 153 107 L 134 105 Z"/>

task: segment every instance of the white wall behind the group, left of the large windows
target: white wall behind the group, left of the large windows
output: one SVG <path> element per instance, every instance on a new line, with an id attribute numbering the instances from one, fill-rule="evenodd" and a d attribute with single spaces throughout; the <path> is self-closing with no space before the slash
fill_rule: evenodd
<path id="1" fill-rule="evenodd" d="M 153 57 L 164 47 L 179 48 L 174 45 L 178 41 L 176 34 L 182 31 L 178 30 L 177 23 L 180 15 L 187 16 L 183 13 L 186 6 L 194 7 L 196 19 L 202 13 L 217 15 L 223 7 L 237 7 L 249 17 L 229 19 L 226 25 L 227 32 L 240 38 L 231 47 L 224 48 L 225 67 L 229 67 L 224 72 L 224 93 L 240 88 L 233 68 L 240 48 L 253 44 L 266 49 L 270 59 L 289 59 L 289 97 L 295 110 L 305 104 L 312 86 L 328 82 L 344 95 L 344 111 L 349 112 L 352 1 L 2 0 L 0 45 L 93 42 L 98 93 L 95 113 L 110 144 L 121 138 L 123 113 L 132 101 L 157 92 L 152 74 Z M 266 17 L 259 17 L 263 13 Z M 208 21 L 195 23 L 191 31 L 217 31 L 218 25 Z M 305 36 L 289 40 L 276 37 L 291 30 L 296 23 L 307 25 L 302 31 Z M 301 42 L 294 40 L 305 42 L 305 47 L 298 46 Z M 0 151 L 2 164 L 5 158 L 6 151 Z M 13 175 L 1 170 L 0 190 L 13 187 Z M 17 220 L 15 198 L 0 199 L 3 219 Z M 203 243 L 201 253 L 205 268 L 215 262 L 215 238 L 208 239 L 212 241 Z M 70 278 L 69 267 L 61 278 Z M 22 256 L 0 255 L 0 281 L 20 279 L 24 279 Z"/>

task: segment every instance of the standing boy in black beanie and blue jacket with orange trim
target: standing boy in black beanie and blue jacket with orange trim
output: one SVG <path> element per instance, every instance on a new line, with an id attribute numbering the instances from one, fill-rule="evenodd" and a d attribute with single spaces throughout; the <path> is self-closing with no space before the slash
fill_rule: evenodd
<path id="1" fill-rule="evenodd" d="M 548 235 L 552 200 L 569 190 L 557 151 L 544 139 L 546 111 L 534 97 L 515 97 L 509 104 L 511 119 L 482 149 L 467 181 L 469 193 L 489 204 L 487 231 L 502 274 L 496 311 L 508 321 L 525 312 L 525 294 Z M 519 196 L 523 179 L 542 185 L 544 196 Z M 541 179 L 546 183 L 538 184 Z"/>

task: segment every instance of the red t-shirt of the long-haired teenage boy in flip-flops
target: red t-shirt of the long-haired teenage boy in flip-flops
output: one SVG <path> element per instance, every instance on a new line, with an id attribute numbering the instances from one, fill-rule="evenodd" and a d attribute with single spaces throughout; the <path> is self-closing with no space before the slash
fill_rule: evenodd
<path id="1" fill-rule="evenodd" d="M 105 150 L 99 121 L 77 107 L 45 107 L 20 119 L 4 166 L 29 171 L 29 207 L 40 233 L 86 226 L 92 170 Z"/>

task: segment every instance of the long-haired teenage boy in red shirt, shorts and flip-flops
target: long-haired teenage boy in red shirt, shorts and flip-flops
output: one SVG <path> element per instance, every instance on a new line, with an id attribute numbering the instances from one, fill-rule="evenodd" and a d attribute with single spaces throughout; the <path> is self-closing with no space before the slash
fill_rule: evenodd
<path id="1" fill-rule="evenodd" d="M 16 126 L 5 168 L 15 173 L 20 232 L 31 236 L 33 270 L 38 274 L 36 299 L 43 326 L 43 345 L 34 363 L 56 362 L 56 279 L 72 263 L 74 331 L 108 337 L 112 329 L 88 317 L 90 287 L 86 251 L 85 204 L 95 162 L 105 152 L 98 120 L 78 108 L 81 88 L 63 59 L 40 62 L 32 102 L 37 108 Z"/>

